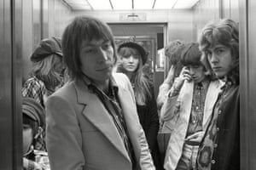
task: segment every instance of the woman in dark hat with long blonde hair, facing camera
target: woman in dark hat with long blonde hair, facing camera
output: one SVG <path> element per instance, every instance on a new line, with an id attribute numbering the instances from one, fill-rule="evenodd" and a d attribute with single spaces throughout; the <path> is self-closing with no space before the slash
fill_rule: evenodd
<path id="1" fill-rule="evenodd" d="M 148 53 L 136 42 L 125 42 L 118 48 L 119 64 L 117 71 L 125 73 L 131 81 L 137 103 L 137 114 L 146 134 L 149 149 L 156 169 L 159 169 L 159 147 L 157 133 L 159 117 L 154 99 L 154 85 L 143 66 L 148 59 Z"/>

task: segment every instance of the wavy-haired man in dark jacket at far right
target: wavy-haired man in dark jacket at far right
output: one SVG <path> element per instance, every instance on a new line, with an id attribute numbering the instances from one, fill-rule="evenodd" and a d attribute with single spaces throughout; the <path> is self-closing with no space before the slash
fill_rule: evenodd
<path id="1" fill-rule="evenodd" d="M 224 82 L 198 158 L 199 170 L 240 169 L 239 34 L 233 20 L 209 23 L 200 35 L 203 60 Z"/>

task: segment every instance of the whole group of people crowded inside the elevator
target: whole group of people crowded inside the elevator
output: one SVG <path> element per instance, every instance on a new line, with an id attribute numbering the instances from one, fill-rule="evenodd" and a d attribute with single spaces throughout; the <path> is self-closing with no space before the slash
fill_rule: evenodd
<path id="1" fill-rule="evenodd" d="M 40 42 L 22 88 L 25 169 L 240 169 L 239 40 L 233 20 L 199 42 L 172 42 L 160 86 L 137 42 L 116 48 L 109 26 L 76 17 Z M 164 163 L 158 133 L 171 133 Z"/>

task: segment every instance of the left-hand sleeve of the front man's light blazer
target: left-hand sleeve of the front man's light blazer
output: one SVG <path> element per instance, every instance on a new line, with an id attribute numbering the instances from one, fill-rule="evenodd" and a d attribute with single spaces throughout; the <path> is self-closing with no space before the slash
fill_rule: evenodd
<path id="1" fill-rule="evenodd" d="M 51 96 L 46 103 L 46 145 L 51 170 L 84 168 L 78 119 L 71 104 L 60 96 Z"/>

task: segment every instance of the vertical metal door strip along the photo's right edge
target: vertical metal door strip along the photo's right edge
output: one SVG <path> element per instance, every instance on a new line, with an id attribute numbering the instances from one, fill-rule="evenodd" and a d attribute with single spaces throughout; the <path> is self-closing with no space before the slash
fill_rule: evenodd
<path id="1" fill-rule="evenodd" d="M 256 167 L 256 2 L 240 0 L 241 167 Z"/>

